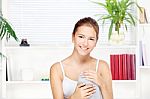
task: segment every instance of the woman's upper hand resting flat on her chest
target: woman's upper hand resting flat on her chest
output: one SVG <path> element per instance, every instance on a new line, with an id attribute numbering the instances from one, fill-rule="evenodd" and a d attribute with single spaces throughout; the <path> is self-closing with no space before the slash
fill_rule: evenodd
<path id="1" fill-rule="evenodd" d="M 98 74 L 96 71 L 93 70 L 85 71 L 81 74 L 81 76 L 89 81 L 96 83 L 99 86 L 102 86 L 104 84 L 102 76 Z"/>

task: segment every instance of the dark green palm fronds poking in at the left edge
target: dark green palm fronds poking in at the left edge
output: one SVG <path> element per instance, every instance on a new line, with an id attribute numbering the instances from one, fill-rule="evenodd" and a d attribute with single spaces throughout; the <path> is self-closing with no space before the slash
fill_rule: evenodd
<path id="1" fill-rule="evenodd" d="M 19 41 L 14 29 L 7 19 L 5 19 L 3 16 L 0 16 L 0 41 L 2 41 L 3 38 L 8 41 L 10 37 L 13 37 L 16 41 Z M 2 52 L 0 52 L 0 57 L 1 56 L 4 56 Z"/>

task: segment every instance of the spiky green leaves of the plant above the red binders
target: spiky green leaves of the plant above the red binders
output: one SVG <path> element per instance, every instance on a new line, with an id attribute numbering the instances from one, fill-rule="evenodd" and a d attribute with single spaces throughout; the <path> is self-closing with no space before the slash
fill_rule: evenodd
<path id="1" fill-rule="evenodd" d="M 133 4 L 135 4 L 140 9 L 136 2 L 131 0 L 105 0 L 104 3 L 99 1 L 92 2 L 102 6 L 107 12 L 105 15 L 102 15 L 98 21 L 103 20 L 103 24 L 105 23 L 105 20 L 111 21 L 109 26 L 108 40 L 111 39 L 113 29 L 119 35 L 121 26 L 124 26 L 126 31 L 127 23 L 135 26 L 135 17 L 132 13 L 130 13 L 130 10 Z"/>

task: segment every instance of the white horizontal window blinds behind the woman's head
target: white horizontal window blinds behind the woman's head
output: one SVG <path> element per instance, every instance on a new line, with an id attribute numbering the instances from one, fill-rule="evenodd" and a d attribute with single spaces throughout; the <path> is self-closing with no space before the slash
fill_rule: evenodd
<path id="1" fill-rule="evenodd" d="M 105 1 L 105 0 L 101 0 Z M 105 12 L 89 0 L 8 0 L 7 14 L 20 39 L 27 38 L 30 44 L 70 45 L 74 24 L 83 17 L 93 17 Z M 108 26 L 100 25 L 99 42 L 108 41 Z M 109 23 L 108 23 L 109 24 Z M 131 32 L 131 30 L 129 31 Z M 128 33 L 127 42 L 132 42 Z M 14 42 L 11 42 L 14 44 Z"/>

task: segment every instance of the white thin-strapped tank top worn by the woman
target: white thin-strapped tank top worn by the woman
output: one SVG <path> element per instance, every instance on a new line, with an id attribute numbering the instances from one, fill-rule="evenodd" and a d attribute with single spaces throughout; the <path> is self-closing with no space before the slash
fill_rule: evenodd
<path id="1" fill-rule="evenodd" d="M 96 72 L 97 72 L 97 69 L 98 69 L 98 63 L 99 63 L 99 60 L 97 60 L 97 63 L 96 63 Z M 61 66 L 62 73 L 63 73 L 63 78 L 64 78 L 63 82 L 62 82 L 64 98 L 66 99 L 66 98 L 68 98 L 69 96 L 71 96 L 74 93 L 74 91 L 76 89 L 76 86 L 78 84 L 78 81 L 71 80 L 70 78 L 65 76 L 64 66 L 63 66 L 61 61 L 60 61 L 60 66 Z M 99 88 L 96 88 L 96 92 L 98 92 L 98 94 L 100 94 Z M 102 99 L 102 95 L 101 94 L 100 94 L 100 97 L 101 98 L 99 98 L 99 96 L 98 96 L 97 99 Z M 96 98 L 90 98 L 90 99 L 96 99 Z"/>

